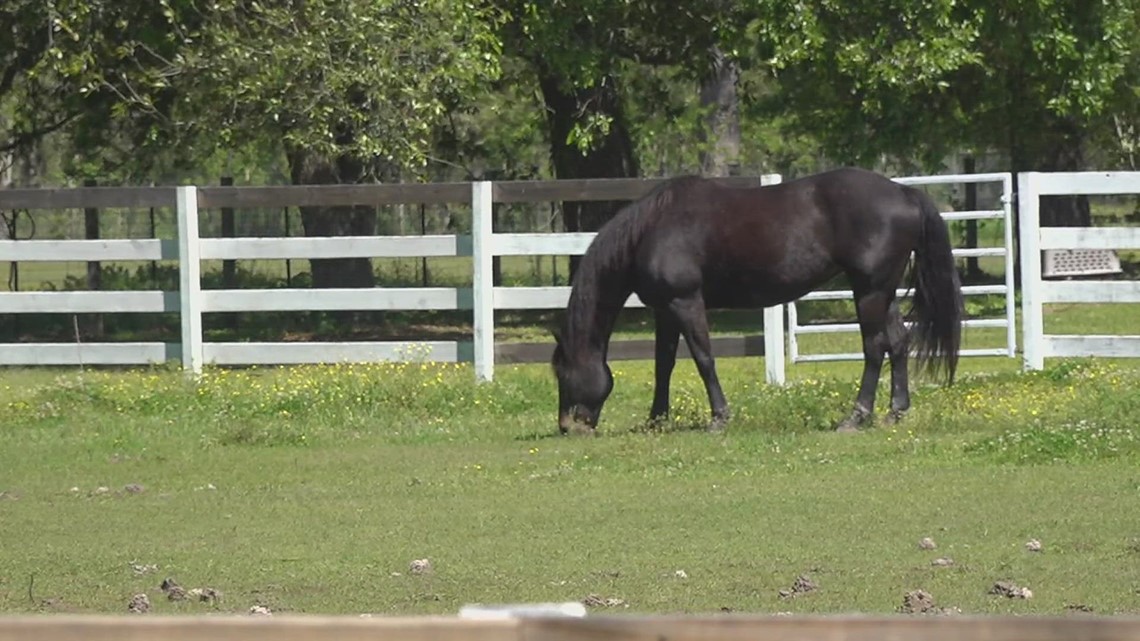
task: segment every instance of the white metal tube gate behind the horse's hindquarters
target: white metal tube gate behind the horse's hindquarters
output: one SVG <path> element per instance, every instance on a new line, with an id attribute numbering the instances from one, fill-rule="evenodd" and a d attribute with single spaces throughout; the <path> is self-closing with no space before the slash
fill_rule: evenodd
<path id="1" fill-rule="evenodd" d="M 954 255 L 959 258 L 969 257 L 1003 257 L 1005 259 L 1005 283 L 1002 285 L 966 285 L 962 287 L 963 295 L 992 295 L 1003 294 L 1005 297 L 1004 315 L 995 318 L 970 318 L 964 322 L 966 327 L 1004 327 L 1005 347 L 988 349 L 963 349 L 962 356 L 1009 356 L 1017 354 L 1017 328 L 1015 323 L 1016 305 L 1013 302 L 1013 225 L 1011 222 L 1013 202 L 1013 179 L 1008 172 L 1004 173 L 964 173 L 953 176 L 911 176 L 894 178 L 896 182 L 903 185 L 960 185 L 967 182 L 1000 182 L 1002 186 L 1001 209 L 977 210 L 977 211 L 954 211 L 945 212 L 942 217 L 945 220 L 978 220 L 978 219 L 1001 219 L 1004 227 L 1003 245 L 986 246 L 976 249 L 955 249 Z M 907 290 L 898 290 L 899 298 L 910 295 Z M 799 301 L 808 300 L 844 300 L 850 299 L 850 290 L 817 291 L 805 294 Z M 796 310 L 796 301 L 788 303 L 788 358 L 791 363 L 808 363 L 820 360 L 862 360 L 863 352 L 846 354 L 800 354 L 799 336 L 804 334 L 823 334 L 839 332 L 858 332 L 858 323 L 824 323 L 800 325 Z"/>

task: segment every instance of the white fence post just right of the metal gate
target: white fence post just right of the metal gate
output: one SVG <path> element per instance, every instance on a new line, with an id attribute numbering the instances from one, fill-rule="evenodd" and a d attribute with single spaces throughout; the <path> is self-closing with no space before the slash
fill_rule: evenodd
<path id="1" fill-rule="evenodd" d="M 1026 370 L 1045 366 L 1042 334 L 1044 318 L 1041 309 L 1041 196 L 1037 194 L 1040 173 L 1023 171 L 1017 176 L 1017 217 L 1021 249 L 1021 331 L 1023 358 Z"/>

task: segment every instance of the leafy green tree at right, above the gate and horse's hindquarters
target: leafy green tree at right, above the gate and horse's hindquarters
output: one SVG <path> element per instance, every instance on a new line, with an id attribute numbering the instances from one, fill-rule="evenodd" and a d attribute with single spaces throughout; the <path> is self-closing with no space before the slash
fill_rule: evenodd
<path id="1" fill-rule="evenodd" d="M 762 7 L 757 54 L 780 82 L 767 108 L 841 162 L 934 170 L 952 152 L 996 148 L 1013 171 L 1075 170 L 1104 116 L 1135 104 L 1137 0 Z M 1042 219 L 1086 224 L 1080 202 L 1043 203 Z"/>

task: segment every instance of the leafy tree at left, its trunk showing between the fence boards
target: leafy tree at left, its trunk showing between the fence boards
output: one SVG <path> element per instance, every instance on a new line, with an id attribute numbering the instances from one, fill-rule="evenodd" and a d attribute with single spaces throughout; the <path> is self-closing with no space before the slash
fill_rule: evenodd
<path id="1" fill-rule="evenodd" d="M 26 68 L 25 96 L 71 119 L 76 149 L 100 162 L 120 140 L 123 155 L 177 145 L 192 161 L 268 144 L 298 184 L 393 179 L 422 170 L 448 109 L 498 73 L 497 11 L 475 0 L 26 5 L 23 19 L 55 36 Z M 375 212 L 307 208 L 302 222 L 309 235 L 370 234 Z M 312 276 L 373 283 L 367 259 L 312 261 Z"/>

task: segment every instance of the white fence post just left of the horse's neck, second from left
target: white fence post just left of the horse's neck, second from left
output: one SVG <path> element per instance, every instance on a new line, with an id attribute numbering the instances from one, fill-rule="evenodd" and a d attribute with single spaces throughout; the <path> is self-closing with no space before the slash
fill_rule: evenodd
<path id="1" fill-rule="evenodd" d="M 472 301 L 474 314 L 475 379 L 495 376 L 495 238 L 492 182 L 471 184 L 471 254 L 474 266 Z"/>

